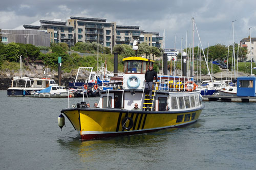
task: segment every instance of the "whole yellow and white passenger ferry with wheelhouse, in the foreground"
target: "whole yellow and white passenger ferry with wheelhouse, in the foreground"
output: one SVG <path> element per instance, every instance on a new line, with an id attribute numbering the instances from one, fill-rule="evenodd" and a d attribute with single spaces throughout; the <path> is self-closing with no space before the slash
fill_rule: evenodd
<path id="1" fill-rule="evenodd" d="M 82 140 L 177 128 L 198 120 L 204 105 L 192 78 L 159 76 L 151 99 L 144 89 L 144 77 L 154 61 L 127 57 L 123 63 L 123 76 L 110 79 L 111 88 L 101 91 L 98 107 L 87 107 L 83 101 L 61 110 L 60 128 L 65 124 L 62 114 Z M 134 110 L 135 104 L 140 109 Z"/>

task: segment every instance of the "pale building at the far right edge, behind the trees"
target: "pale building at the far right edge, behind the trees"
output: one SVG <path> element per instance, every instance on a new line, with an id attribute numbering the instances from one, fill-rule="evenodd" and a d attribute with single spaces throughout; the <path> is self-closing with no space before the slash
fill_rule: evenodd
<path id="1" fill-rule="evenodd" d="M 255 61 L 256 57 L 256 38 L 251 37 L 251 45 L 250 45 L 250 36 L 248 38 L 243 38 L 240 41 L 240 46 L 247 47 L 248 54 L 246 55 L 247 61 L 251 60 Z M 251 57 L 250 57 L 250 46 L 251 46 Z"/>

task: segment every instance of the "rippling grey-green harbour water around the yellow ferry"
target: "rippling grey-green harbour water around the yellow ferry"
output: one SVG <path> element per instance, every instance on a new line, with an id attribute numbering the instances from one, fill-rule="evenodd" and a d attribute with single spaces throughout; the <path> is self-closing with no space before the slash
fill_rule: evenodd
<path id="1" fill-rule="evenodd" d="M 0 169 L 255 169 L 256 105 L 203 104 L 198 122 L 184 128 L 81 141 L 67 118 L 58 127 L 67 98 L 0 90 Z"/>

